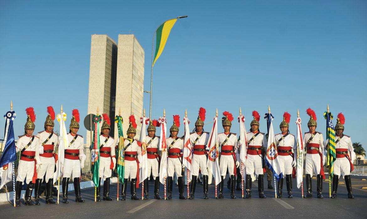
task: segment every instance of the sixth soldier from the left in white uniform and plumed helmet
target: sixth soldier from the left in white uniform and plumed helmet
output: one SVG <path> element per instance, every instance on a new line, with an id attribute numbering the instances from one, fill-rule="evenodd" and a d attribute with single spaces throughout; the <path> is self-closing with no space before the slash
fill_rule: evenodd
<path id="1" fill-rule="evenodd" d="M 158 151 L 158 143 L 160 141 L 160 137 L 156 136 L 156 126 L 158 126 L 157 120 L 150 120 L 149 126 L 146 129 L 148 131 L 148 135 L 145 137 L 148 143 L 146 144 L 146 152 L 148 155 L 148 176 L 150 174 L 153 175 L 154 179 L 154 198 L 161 200 L 162 198 L 159 196 L 159 151 Z M 146 178 L 144 180 L 144 200 L 149 199 L 149 179 Z"/>

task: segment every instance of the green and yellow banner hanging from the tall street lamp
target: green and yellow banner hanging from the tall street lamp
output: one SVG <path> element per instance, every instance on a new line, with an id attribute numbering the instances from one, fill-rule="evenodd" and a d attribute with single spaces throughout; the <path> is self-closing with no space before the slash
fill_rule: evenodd
<path id="1" fill-rule="evenodd" d="M 156 31 L 156 52 L 153 58 L 153 66 L 156 63 L 159 56 L 162 54 L 164 46 L 166 45 L 168 36 L 170 35 L 173 25 L 175 25 L 177 18 L 168 20 L 162 23 Z"/>

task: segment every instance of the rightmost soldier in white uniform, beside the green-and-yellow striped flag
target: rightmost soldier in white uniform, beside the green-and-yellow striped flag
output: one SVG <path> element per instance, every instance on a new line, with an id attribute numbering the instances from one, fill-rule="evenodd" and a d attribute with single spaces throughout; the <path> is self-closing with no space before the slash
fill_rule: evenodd
<path id="1" fill-rule="evenodd" d="M 353 171 L 352 161 L 356 157 L 356 153 L 354 152 L 350 136 L 343 134 L 345 122 L 344 115 L 339 113 L 337 120 L 338 122 L 335 126 L 335 151 L 337 159 L 333 163 L 333 194 L 331 194 L 331 198 L 337 197 L 338 181 L 340 176 L 343 176 L 345 179 L 348 198 L 354 198 L 352 193 L 352 182 L 350 181 L 350 172 Z"/>

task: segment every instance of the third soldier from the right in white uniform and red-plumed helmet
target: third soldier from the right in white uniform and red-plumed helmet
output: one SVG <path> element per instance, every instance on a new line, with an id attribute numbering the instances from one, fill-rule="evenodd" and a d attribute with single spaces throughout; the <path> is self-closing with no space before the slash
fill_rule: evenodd
<path id="1" fill-rule="evenodd" d="M 288 112 L 284 112 L 283 122 L 281 122 L 279 125 L 281 133 L 275 135 L 280 169 L 281 172 L 283 172 L 283 175 L 286 175 L 288 198 L 293 197 L 292 171 L 297 164 L 295 160 L 297 159 L 297 156 L 294 157 L 294 151 L 297 151 L 297 142 L 294 135 L 289 133 L 288 130 L 290 119 L 291 115 Z M 283 195 L 283 178 L 279 180 L 277 187 L 277 197 L 281 198 Z"/>

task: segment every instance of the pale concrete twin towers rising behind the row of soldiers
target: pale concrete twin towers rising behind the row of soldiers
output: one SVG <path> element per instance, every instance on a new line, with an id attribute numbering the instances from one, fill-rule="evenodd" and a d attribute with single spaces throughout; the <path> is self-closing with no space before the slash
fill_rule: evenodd
<path id="1" fill-rule="evenodd" d="M 88 114 L 107 113 L 111 121 L 119 114 L 125 120 L 134 114 L 140 118 L 143 111 L 145 52 L 133 34 L 119 34 L 118 44 L 107 35 L 92 35 L 89 70 Z M 138 123 L 140 126 L 140 123 Z M 137 129 L 139 136 L 140 129 Z M 125 134 L 125 133 L 124 133 Z M 111 122 L 110 136 L 117 137 L 117 125 Z M 87 131 L 90 145 L 90 131 Z"/>

